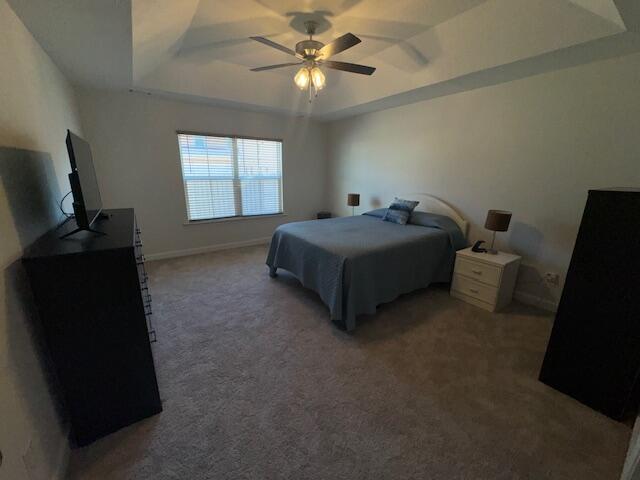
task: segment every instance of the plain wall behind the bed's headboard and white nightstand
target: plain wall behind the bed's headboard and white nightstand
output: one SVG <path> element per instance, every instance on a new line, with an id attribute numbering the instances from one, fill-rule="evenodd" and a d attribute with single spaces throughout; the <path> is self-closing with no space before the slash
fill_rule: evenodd
<path id="1" fill-rule="evenodd" d="M 564 277 L 587 190 L 640 185 L 639 82 L 633 55 L 334 122 L 330 205 L 431 193 L 471 221 L 471 240 L 490 239 L 488 209 L 512 210 L 498 246 L 524 256 L 517 290 L 550 307 L 561 286 L 541 276 Z"/>

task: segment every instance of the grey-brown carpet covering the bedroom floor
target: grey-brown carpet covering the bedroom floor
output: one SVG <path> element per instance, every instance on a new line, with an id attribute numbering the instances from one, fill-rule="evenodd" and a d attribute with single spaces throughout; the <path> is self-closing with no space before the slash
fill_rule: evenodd
<path id="1" fill-rule="evenodd" d="M 630 429 L 537 381 L 552 318 L 432 288 L 328 321 L 265 247 L 149 265 L 164 412 L 75 479 L 617 479 Z"/>

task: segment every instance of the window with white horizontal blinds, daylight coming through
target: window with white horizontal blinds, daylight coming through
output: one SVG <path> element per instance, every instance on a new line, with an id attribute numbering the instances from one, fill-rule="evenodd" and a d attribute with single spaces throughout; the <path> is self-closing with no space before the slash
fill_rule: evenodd
<path id="1" fill-rule="evenodd" d="M 282 213 L 282 142 L 178 132 L 190 221 Z"/>

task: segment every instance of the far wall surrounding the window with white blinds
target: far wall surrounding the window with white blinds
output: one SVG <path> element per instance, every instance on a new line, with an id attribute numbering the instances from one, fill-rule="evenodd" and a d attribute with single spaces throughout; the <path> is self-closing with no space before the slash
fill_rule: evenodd
<path id="1" fill-rule="evenodd" d="M 326 208 L 320 123 L 139 93 L 82 90 L 79 99 L 103 204 L 136 209 L 148 256 L 268 238 L 277 225 Z M 176 130 L 282 139 L 287 216 L 185 225 Z"/>

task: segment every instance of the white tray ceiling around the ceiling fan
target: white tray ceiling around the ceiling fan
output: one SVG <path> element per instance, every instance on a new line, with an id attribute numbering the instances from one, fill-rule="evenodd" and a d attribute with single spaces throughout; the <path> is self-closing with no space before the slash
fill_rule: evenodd
<path id="1" fill-rule="evenodd" d="M 640 51 L 637 0 L 9 0 L 72 81 L 320 118 L 386 108 Z M 250 40 L 293 48 L 304 21 L 328 43 L 362 43 L 336 60 L 312 104 L 295 61 Z"/>

